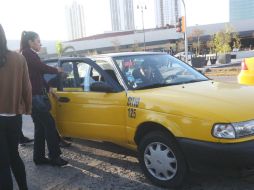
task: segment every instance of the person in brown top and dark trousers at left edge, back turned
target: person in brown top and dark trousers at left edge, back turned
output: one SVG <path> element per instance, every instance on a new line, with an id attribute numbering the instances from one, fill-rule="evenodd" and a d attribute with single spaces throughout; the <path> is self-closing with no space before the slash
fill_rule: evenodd
<path id="1" fill-rule="evenodd" d="M 0 25 L 0 189 L 12 190 L 11 169 L 20 190 L 27 190 L 26 171 L 18 152 L 22 114 L 32 108 L 31 83 L 25 58 L 7 49 Z"/>

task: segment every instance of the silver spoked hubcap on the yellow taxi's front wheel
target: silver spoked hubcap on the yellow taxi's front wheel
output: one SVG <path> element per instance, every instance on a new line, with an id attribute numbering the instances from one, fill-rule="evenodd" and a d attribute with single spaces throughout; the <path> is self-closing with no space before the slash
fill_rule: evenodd
<path id="1" fill-rule="evenodd" d="M 173 151 L 163 143 L 149 144 L 144 152 L 144 161 L 149 173 L 159 180 L 170 180 L 176 175 L 176 157 Z"/>

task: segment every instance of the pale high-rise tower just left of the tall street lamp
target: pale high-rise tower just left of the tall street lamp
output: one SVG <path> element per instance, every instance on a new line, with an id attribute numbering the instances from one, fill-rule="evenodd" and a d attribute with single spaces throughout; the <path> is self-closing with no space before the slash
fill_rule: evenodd
<path id="1" fill-rule="evenodd" d="M 133 0 L 110 0 L 112 31 L 134 30 Z"/>

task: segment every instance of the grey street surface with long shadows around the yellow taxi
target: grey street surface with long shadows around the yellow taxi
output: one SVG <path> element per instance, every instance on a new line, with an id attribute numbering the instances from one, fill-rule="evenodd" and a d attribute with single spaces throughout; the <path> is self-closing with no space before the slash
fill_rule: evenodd
<path id="1" fill-rule="evenodd" d="M 216 78 L 236 82 L 234 77 Z M 25 135 L 33 137 L 30 116 L 23 117 Z M 136 153 L 103 142 L 74 139 L 72 146 L 62 149 L 62 156 L 69 161 L 63 168 L 35 166 L 32 161 L 33 144 L 20 146 L 26 166 L 30 190 L 119 190 L 162 188 L 151 184 L 143 175 Z M 17 185 L 15 184 L 15 189 Z M 253 190 L 254 176 L 229 177 L 190 173 L 183 190 Z"/>

